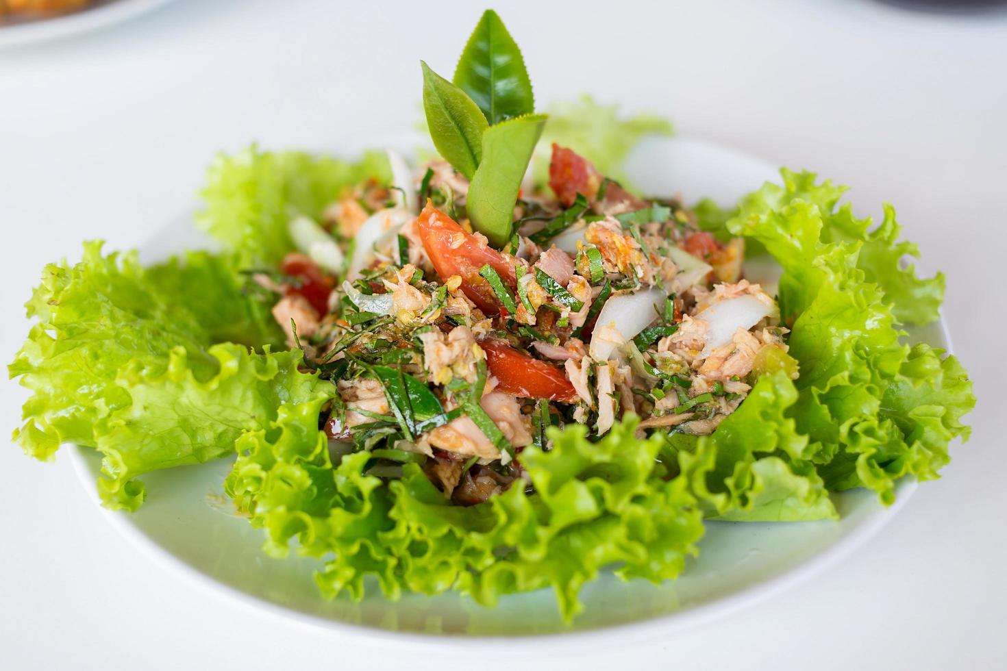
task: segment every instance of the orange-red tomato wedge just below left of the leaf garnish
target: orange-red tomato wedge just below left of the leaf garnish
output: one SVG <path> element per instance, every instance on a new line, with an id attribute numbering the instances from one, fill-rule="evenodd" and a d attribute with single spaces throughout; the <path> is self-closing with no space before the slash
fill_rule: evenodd
<path id="1" fill-rule="evenodd" d="M 423 248 L 430 257 L 430 263 L 442 281 L 453 275 L 461 277 L 461 290 L 472 303 L 487 315 L 499 313 L 500 304 L 496 300 L 489 283 L 479 275 L 479 269 L 489 265 L 512 290 L 518 286 L 514 263 L 496 249 L 482 242 L 475 235 L 466 232 L 458 222 L 427 201 L 426 207 L 416 220 L 416 228 L 423 241 Z"/>

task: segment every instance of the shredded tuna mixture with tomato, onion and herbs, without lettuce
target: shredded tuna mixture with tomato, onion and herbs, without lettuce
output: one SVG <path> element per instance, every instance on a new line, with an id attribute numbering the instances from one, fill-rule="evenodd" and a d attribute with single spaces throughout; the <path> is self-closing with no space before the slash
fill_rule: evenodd
<path id="1" fill-rule="evenodd" d="M 600 438 L 632 414 L 640 436 L 710 434 L 786 352 L 775 301 L 742 277 L 743 238 L 571 149 L 553 145 L 548 188 L 518 199 L 500 248 L 459 216 L 469 184 L 449 164 L 400 174 L 296 220 L 301 250 L 253 274 L 287 345 L 336 385 L 334 449 L 371 451 L 376 472 L 422 461 L 451 501 L 479 503 L 525 482 L 516 457 L 548 449 L 549 427 Z"/>

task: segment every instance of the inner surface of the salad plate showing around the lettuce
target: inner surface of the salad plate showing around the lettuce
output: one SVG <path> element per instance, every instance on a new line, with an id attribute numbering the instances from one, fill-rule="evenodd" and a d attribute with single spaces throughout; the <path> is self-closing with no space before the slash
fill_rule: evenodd
<path id="1" fill-rule="evenodd" d="M 415 140 L 408 138 L 415 136 L 400 136 L 385 146 L 412 149 Z M 643 191 L 681 192 L 687 201 L 710 195 L 732 202 L 776 177 L 774 168 L 763 161 L 685 139 L 649 141 L 626 167 Z M 155 235 L 141 254 L 147 262 L 156 261 L 199 239 L 184 217 Z M 914 337 L 934 346 L 950 345 L 941 323 Z M 96 453 L 76 449 L 73 454 L 78 473 L 94 493 L 100 464 Z M 468 641 L 481 650 L 492 641 L 500 642 L 500 637 L 505 645 L 513 645 L 513 637 L 530 637 L 524 645 L 550 648 L 611 640 L 591 634 L 602 628 L 617 628 L 618 640 L 625 643 L 709 621 L 835 564 L 874 534 L 915 489 L 914 482 L 902 482 L 897 503 L 890 508 L 879 505 L 867 491 L 838 495 L 839 521 L 710 522 L 699 558 L 690 562 L 680 579 L 654 585 L 642 580 L 622 582 L 605 574 L 584 590 L 587 608 L 568 626 L 558 617 L 551 591 L 506 597 L 491 610 L 454 595 L 410 595 L 393 603 L 377 589 L 359 604 L 346 599 L 327 602 L 312 581 L 317 561 L 267 557 L 259 549 L 262 532 L 230 512 L 221 487 L 230 466 L 231 460 L 222 460 L 144 476 L 147 503 L 132 515 L 109 512 L 109 518 L 173 572 L 274 614 L 328 628 L 354 627 L 359 635 L 383 640 L 433 641 L 429 635 L 453 635 L 459 639 L 455 643 Z M 549 634 L 567 636 L 543 636 Z"/>

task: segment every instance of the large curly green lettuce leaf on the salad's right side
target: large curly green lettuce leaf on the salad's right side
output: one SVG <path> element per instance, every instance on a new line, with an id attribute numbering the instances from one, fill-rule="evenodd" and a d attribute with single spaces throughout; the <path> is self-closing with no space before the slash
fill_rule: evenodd
<path id="1" fill-rule="evenodd" d="M 896 303 L 903 313 L 936 317 L 936 308 L 907 301 L 932 296 L 940 278 L 907 280 L 903 273 L 893 284 L 885 275 L 896 269 L 891 254 L 883 264 L 864 260 L 890 232 L 853 234 L 869 222 L 854 226 L 850 208 L 837 209 L 842 189 L 810 173 L 782 175 L 782 186 L 747 196 L 728 227 L 762 242 L 783 269 L 780 311 L 794 320 L 789 353 L 801 368 L 792 414 L 809 438 L 808 458 L 828 489 L 869 487 L 890 503 L 899 478 L 937 477 L 950 443 L 969 435 L 961 417 L 975 398 L 957 359 L 899 341 Z"/>

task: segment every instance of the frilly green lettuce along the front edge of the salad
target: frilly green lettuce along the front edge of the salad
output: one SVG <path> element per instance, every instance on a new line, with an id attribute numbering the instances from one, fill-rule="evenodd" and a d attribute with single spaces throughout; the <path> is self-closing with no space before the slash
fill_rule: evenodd
<path id="1" fill-rule="evenodd" d="M 300 552 L 332 557 L 316 576 L 328 597 L 361 599 L 368 575 L 390 599 L 459 590 L 487 606 L 552 586 L 569 619 L 601 568 L 660 581 L 697 552 L 698 501 L 687 480 L 665 478 L 663 441 L 636 438 L 635 420 L 598 443 L 580 426 L 554 430 L 550 452 L 522 453 L 535 494 L 512 487 L 460 507 L 415 464 L 387 486 L 367 474 L 366 452 L 333 466 L 316 417 L 311 404 L 289 407 L 269 431 L 242 437 L 226 488 L 266 530 L 267 551 L 296 538 Z"/>

